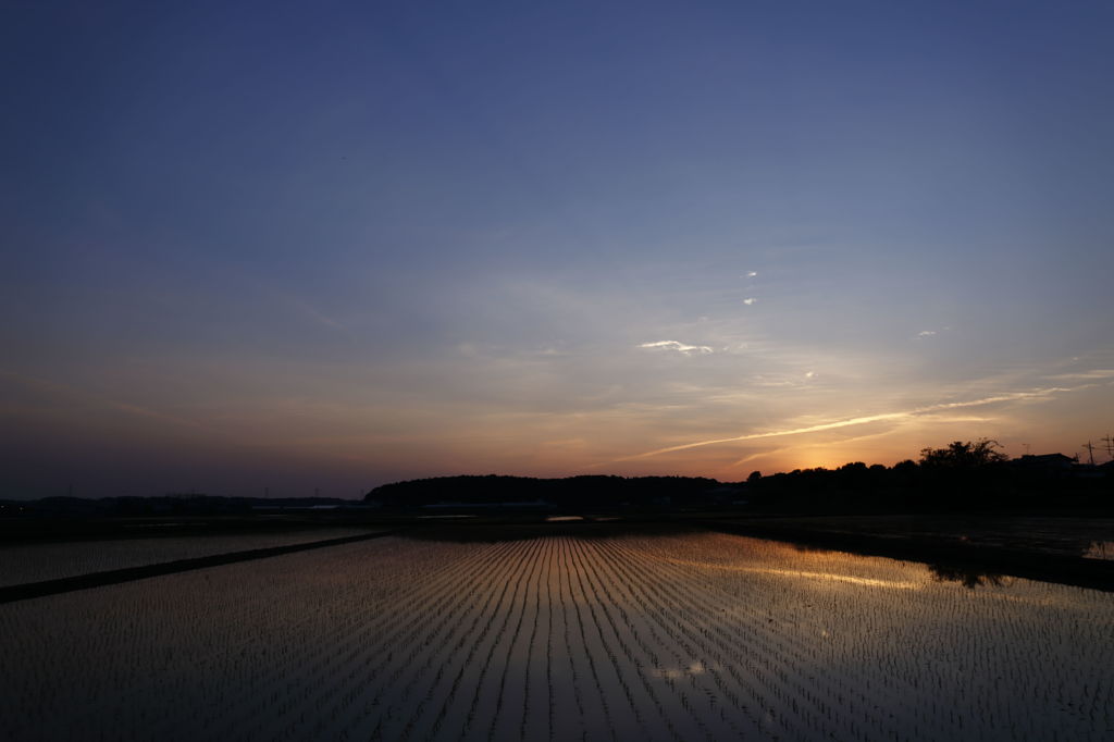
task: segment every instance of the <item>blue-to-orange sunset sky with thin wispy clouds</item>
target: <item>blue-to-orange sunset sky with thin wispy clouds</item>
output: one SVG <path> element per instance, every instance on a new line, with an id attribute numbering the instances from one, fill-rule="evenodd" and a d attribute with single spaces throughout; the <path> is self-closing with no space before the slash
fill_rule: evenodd
<path id="1" fill-rule="evenodd" d="M 0 497 L 1108 460 L 1112 27 L 2 2 Z"/>

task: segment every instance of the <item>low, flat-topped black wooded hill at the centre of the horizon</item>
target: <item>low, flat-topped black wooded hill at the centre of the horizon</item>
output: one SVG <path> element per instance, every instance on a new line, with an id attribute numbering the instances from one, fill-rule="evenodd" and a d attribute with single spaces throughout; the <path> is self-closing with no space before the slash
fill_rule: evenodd
<path id="1" fill-rule="evenodd" d="M 704 477 L 536 479 L 488 475 L 400 481 L 377 487 L 364 499 L 385 507 L 451 507 L 457 504 L 672 507 L 715 500 L 719 496 L 714 490 L 719 487 L 719 481 Z"/>

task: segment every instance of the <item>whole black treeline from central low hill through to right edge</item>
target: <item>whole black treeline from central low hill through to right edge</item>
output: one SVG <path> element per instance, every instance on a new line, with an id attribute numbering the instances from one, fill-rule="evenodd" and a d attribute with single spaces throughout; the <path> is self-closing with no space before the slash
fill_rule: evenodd
<path id="1" fill-rule="evenodd" d="M 1067 457 L 995 455 L 985 441 L 925 449 L 892 467 L 861 461 L 838 469 L 798 469 L 746 481 L 701 477 L 437 477 L 383 485 L 365 500 L 389 508 L 453 506 L 739 507 L 760 512 L 946 512 L 1114 508 L 1114 467 Z M 948 453 L 950 451 L 950 453 Z"/>

